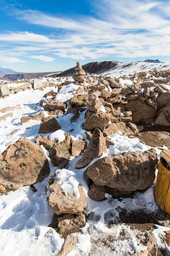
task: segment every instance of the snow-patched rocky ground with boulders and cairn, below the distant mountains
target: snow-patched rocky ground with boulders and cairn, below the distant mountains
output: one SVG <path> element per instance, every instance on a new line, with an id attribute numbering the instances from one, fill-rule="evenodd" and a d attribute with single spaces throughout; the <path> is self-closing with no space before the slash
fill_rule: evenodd
<path id="1" fill-rule="evenodd" d="M 169 73 L 2 82 L 0 131 L 3 256 L 170 255 Z"/>

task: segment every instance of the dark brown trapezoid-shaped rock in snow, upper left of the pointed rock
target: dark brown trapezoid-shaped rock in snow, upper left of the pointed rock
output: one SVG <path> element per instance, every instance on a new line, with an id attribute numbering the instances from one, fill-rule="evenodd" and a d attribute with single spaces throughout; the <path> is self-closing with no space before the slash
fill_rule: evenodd
<path id="1" fill-rule="evenodd" d="M 45 117 L 41 119 L 39 134 L 45 134 L 49 132 L 54 132 L 59 130 L 61 127 L 59 126 L 57 120 L 53 116 Z"/>

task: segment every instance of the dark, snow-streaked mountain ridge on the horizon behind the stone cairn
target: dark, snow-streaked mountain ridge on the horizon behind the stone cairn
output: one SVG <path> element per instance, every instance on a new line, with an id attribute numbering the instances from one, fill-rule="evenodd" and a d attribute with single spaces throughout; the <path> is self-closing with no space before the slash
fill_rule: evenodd
<path id="1" fill-rule="evenodd" d="M 95 61 L 82 65 L 82 68 L 87 73 L 102 73 L 108 74 L 110 76 L 120 76 L 132 73 L 138 73 L 141 71 L 150 70 L 169 70 L 170 62 L 166 63 L 155 63 L 155 62 L 143 62 L 143 61 L 133 61 L 128 63 L 123 63 L 119 61 Z M 57 76 L 72 76 L 74 68 L 65 70 L 62 73 L 54 74 Z"/>

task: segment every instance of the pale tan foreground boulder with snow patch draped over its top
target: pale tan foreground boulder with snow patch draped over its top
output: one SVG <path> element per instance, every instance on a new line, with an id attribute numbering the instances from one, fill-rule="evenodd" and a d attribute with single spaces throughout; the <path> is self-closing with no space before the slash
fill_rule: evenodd
<path id="1" fill-rule="evenodd" d="M 84 212 L 87 200 L 81 186 L 78 187 L 78 190 L 79 198 L 76 198 L 73 192 L 68 192 L 68 196 L 66 196 L 62 192 L 59 184 L 52 184 L 49 187 L 50 196 L 48 203 L 52 207 L 53 212 L 57 215 L 62 213 L 79 214 Z"/>

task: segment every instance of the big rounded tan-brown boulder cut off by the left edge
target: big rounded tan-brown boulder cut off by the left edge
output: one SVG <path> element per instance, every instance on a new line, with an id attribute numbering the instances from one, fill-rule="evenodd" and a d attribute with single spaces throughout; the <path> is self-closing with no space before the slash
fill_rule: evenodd
<path id="1" fill-rule="evenodd" d="M 6 189 L 19 189 L 48 177 L 48 160 L 40 146 L 21 138 L 10 145 L 0 160 L 0 184 Z"/>

